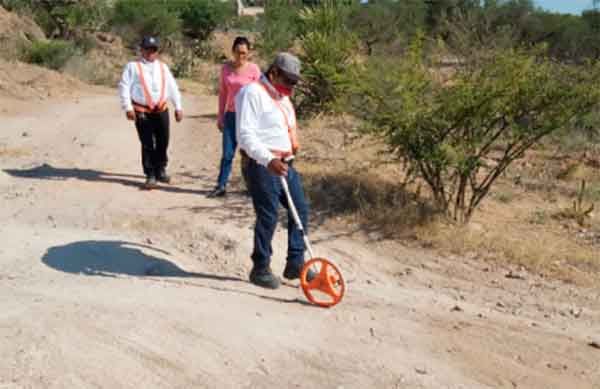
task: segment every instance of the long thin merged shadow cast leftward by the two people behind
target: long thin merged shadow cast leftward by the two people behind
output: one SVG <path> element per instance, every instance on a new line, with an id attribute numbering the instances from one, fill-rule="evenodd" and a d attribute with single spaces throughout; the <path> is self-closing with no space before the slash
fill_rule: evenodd
<path id="1" fill-rule="evenodd" d="M 49 164 L 43 164 L 31 169 L 4 169 L 4 172 L 19 178 L 33 178 L 40 180 L 67 180 L 78 179 L 83 181 L 97 181 L 113 184 L 121 184 L 142 189 L 144 177 L 134 174 L 108 173 L 93 169 L 57 168 Z M 159 185 L 156 189 L 173 193 L 207 194 L 205 190 L 184 189 L 175 186 Z"/>

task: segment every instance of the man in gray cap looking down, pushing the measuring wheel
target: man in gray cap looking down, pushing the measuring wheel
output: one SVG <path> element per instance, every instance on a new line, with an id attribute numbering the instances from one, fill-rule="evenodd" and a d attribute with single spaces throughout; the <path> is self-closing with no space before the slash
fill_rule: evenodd
<path id="1" fill-rule="evenodd" d="M 306 228 L 308 205 L 302 179 L 291 162 L 298 150 L 296 114 L 290 100 L 300 80 L 300 61 L 289 53 L 277 55 L 258 82 L 246 85 L 235 100 L 237 139 L 247 155 L 248 186 L 256 213 L 250 281 L 276 289 L 280 281 L 271 271 L 273 234 L 279 204 L 288 209 L 288 251 L 283 276 L 296 279 L 304 264 L 302 232 L 288 208 L 280 177 L 286 177 L 292 200 Z M 307 277 L 312 278 L 312 274 Z"/>

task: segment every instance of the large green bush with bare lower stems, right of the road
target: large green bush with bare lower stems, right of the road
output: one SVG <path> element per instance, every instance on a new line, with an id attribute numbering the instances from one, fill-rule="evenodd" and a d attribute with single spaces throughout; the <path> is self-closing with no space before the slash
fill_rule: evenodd
<path id="1" fill-rule="evenodd" d="M 440 210 L 467 222 L 506 168 L 600 101 L 600 64 L 498 50 L 442 83 L 421 44 L 359 73 L 353 112 L 431 189 Z"/>

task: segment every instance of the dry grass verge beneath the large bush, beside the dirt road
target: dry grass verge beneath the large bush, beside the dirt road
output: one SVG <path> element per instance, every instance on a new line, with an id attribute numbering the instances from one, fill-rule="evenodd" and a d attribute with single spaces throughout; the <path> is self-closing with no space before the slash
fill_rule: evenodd
<path id="1" fill-rule="evenodd" d="M 335 220 L 441 255 L 518 264 L 566 281 L 600 275 L 600 220 L 591 213 L 582 226 L 564 212 L 581 179 L 588 182 L 586 206 L 600 200 L 595 156 L 529 153 L 499 180 L 472 222 L 457 226 L 436 217 L 424 188 L 417 194 L 415 184 L 402 185 L 402 166 L 386 161 L 381 144 L 352 135 L 351 119 L 318 118 L 305 127 L 300 170 L 318 223 Z"/>

